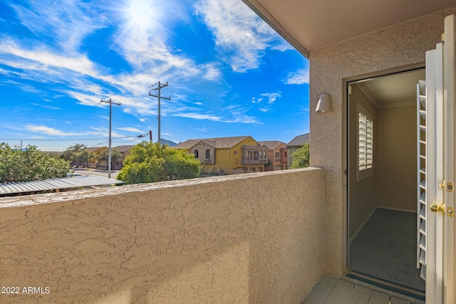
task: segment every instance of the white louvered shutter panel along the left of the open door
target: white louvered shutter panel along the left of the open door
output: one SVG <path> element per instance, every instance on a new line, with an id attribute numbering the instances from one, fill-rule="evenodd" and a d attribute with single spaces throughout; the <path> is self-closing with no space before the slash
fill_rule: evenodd
<path id="1" fill-rule="evenodd" d="M 418 202 L 417 267 L 426 281 L 426 303 L 442 303 L 444 216 L 431 205 L 444 204 L 443 49 L 426 52 L 426 80 L 417 85 Z M 435 208 L 434 208 L 435 210 Z"/>

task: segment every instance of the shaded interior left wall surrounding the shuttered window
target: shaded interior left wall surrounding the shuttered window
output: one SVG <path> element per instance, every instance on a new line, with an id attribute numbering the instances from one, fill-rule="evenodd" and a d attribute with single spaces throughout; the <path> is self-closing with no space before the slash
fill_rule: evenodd
<path id="1" fill-rule="evenodd" d="M 373 117 L 373 175 L 358 181 L 358 104 L 362 105 Z M 376 110 L 369 100 L 361 93 L 356 85 L 351 85 L 351 95 L 348 100 L 348 142 L 349 142 L 349 168 L 348 168 L 348 201 L 349 201 L 349 237 L 352 238 L 358 229 L 363 226 L 364 221 L 375 210 L 377 206 L 377 178 L 376 168 L 376 151 L 378 145 L 377 130 L 378 122 L 376 118 Z"/>

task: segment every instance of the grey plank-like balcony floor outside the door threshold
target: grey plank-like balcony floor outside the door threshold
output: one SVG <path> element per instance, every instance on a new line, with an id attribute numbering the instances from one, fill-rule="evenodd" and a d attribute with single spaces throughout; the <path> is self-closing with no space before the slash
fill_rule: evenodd
<path id="1" fill-rule="evenodd" d="M 304 304 L 423 304 L 423 301 L 392 295 L 388 290 L 369 288 L 346 278 L 321 280 Z"/>

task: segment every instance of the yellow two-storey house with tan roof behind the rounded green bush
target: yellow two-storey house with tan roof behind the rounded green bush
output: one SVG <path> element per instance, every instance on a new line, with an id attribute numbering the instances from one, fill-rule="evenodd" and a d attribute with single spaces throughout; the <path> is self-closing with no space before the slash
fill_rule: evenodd
<path id="1" fill-rule="evenodd" d="M 207 169 L 261 172 L 267 163 L 267 148 L 251 136 L 186 140 L 173 148 L 187 150 Z"/>

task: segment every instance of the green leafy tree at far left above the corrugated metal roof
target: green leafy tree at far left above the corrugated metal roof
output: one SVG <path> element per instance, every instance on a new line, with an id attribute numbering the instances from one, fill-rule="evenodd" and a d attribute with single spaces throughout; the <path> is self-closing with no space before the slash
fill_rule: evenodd
<path id="1" fill-rule="evenodd" d="M 0 182 L 28 182 L 35 179 L 66 177 L 70 164 L 56 159 L 37 147 L 28 145 L 25 150 L 0 144 Z"/>

